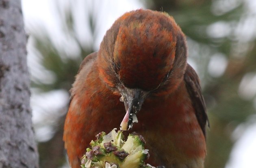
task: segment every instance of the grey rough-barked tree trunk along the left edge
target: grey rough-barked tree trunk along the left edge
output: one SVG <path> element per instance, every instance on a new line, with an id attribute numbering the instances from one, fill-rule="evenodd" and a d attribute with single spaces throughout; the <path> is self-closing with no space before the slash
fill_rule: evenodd
<path id="1" fill-rule="evenodd" d="M 0 0 L 0 168 L 38 168 L 20 0 Z"/>

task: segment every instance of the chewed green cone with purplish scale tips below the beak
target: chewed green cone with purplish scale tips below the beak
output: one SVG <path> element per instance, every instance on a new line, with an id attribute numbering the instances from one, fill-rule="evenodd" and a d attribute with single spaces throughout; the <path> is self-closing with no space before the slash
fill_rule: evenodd
<path id="1" fill-rule="evenodd" d="M 96 138 L 81 158 L 82 168 L 154 168 L 144 162 L 149 153 L 141 135 L 130 134 L 124 141 L 122 131 L 113 129 L 108 134 L 99 133 Z"/>

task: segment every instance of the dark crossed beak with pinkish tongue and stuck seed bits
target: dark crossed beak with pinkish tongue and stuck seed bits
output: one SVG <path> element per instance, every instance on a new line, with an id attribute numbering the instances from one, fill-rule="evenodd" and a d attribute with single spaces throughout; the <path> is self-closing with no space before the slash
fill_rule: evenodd
<path id="1" fill-rule="evenodd" d="M 120 129 L 127 130 L 132 128 L 133 123 L 138 123 L 136 114 L 141 110 L 141 106 L 148 95 L 148 92 L 141 89 L 126 88 L 126 92 L 122 94 L 126 115 L 121 122 Z"/>

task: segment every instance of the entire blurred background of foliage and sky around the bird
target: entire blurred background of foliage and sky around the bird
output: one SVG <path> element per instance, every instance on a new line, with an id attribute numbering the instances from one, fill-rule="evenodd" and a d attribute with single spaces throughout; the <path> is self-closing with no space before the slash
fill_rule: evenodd
<path id="1" fill-rule="evenodd" d="M 255 168 L 255 0 L 22 0 L 22 8 L 41 168 L 69 167 L 63 123 L 80 62 L 115 19 L 139 8 L 169 13 L 187 35 L 210 120 L 205 167 Z"/>

